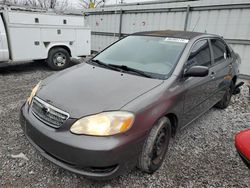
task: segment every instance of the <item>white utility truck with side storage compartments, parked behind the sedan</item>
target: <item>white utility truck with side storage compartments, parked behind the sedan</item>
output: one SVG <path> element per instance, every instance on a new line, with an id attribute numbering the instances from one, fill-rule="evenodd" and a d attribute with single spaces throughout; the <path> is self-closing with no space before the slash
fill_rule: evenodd
<path id="1" fill-rule="evenodd" d="M 90 55 L 84 16 L 23 7 L 0 7 L 0 63 L 45 60 L 61 70 Z"/>

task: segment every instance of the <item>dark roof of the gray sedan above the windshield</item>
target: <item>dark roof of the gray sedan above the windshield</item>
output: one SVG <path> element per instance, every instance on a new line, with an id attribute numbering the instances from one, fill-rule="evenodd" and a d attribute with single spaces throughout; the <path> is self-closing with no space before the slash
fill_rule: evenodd
<path id="1" fill-rule="evenodd" d="M 173 37 L 182 39 L 192 39 L 198 36 L 217 36 L 207 33 L 191 32 L 191 31 L 174 31 L 174 30 L 143 31 L 143 32 L 133 33 L 132 35 Z"/>

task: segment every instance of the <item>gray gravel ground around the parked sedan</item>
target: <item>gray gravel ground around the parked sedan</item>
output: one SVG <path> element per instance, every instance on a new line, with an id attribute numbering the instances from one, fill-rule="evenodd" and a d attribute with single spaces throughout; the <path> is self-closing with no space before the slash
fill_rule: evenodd
<path id="1" fill-rule="evenodd" d="M 250 187 L 250 171 L 234 148 L 234 134 L 250 127 L 246 86 L 226 110 L 211 109 L 180 131 L 153 175 L 134 169 L 96 182 L 41 157 L 20 128 L 19 109 L 30 89 L 51 74 L 40 63 L 0 68 L 0 187 Z M 19 153 L 29 160 L 11 157 Z"/>

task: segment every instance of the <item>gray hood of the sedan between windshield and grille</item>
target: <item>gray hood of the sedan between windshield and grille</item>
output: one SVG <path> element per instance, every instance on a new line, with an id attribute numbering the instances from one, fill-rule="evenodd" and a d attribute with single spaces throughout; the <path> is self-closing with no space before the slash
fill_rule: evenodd
<path id="1" fill-rule="evenodd" d="M 45 79 L 37 96 L 72 118 L 119 110 L 163 83 L 89 64 L 74 66 Z"/>

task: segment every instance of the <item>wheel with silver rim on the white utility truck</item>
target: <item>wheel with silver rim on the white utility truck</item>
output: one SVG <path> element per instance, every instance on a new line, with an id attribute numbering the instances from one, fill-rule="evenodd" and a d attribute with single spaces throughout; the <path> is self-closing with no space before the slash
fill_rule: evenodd
<path id="1" fill-rule="evenodd" d="M 63 48 L 53 48 L 49 51 L 47 59 L 48 66 L 53 70 L 67 68 L 70 63 L 69 52 Z"/>

